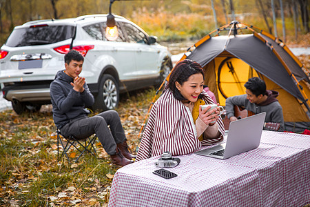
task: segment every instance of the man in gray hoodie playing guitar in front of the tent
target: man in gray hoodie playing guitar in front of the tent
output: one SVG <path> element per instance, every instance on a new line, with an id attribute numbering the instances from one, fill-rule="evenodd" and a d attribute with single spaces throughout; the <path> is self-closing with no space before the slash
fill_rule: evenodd
<path id="1" fill-rule="evenodd" d="M 279 131 L 285 130 L 282 106 L 278 99 L 278 92 L 266 90 L 266 83 L 258 77 L 250 78 L 245 83 L 245 95 L 238 95 L 226 99 L 226 115 L 229 121 L 236 121 L 234 106 L 240 106 L 246 110 L 258 114 L 266 112 L 265 122 L 280 124 Z M 272 128 L 264 127 L 264 130 Z"/>

